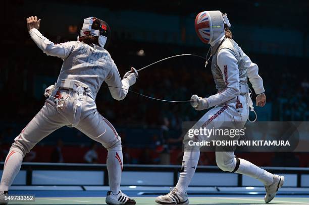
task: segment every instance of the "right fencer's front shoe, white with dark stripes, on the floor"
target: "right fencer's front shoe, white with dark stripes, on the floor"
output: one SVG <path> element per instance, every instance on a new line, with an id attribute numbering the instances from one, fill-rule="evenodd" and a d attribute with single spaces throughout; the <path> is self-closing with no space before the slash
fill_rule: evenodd
<path id="1" fill-rule="evenodd" d="M 189 204 L 187 192 L 182 194 L 177 191 L 176 187 L 170 193 L 158 196 L 155 201 L 160 204 Z"/>

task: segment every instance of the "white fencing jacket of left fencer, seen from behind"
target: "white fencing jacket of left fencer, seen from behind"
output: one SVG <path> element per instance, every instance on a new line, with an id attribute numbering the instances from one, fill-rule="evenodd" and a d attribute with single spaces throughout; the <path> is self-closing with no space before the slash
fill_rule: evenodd
<path id="1" fill-rule="evenodd" d="M 69 41 L 54 44 L 45 38 L 37 29 L 31 29 L 29 34 L 36 45 L 47 55 L 57 56 L 63 59 L 63 65 L 57 84 L 64 79 L 73 80 L 80 86 L 88 87 L 94 98 L 105 81 L 112 97 L 122 100 L 128 93 L 130 82 L 125 78 L 121 80 L 118 69 L 110 53 L 97 45 L 90 46 L 80 41 Z M 124 89 L 119 89 L 124 88 Z"/>

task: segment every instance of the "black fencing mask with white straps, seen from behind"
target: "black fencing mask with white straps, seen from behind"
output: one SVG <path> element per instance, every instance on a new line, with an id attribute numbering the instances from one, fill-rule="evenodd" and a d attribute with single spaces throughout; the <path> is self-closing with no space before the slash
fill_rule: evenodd
<path id="1" fill-rule="evenodd" d="M 96 26 L 94 26 L 95 24 Z M 95 17 L 89 17 L 84 19 L 84 23 L 81 26 L 79 35 L 77 36 L 77 40 L 79 40 L 79 37 L 87 35 L 98 36 L 98 43 L 100 47 L 107 48 L 111 38 L 111 29 L 105 21 Z"/>

